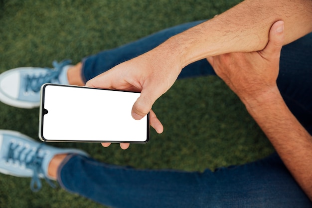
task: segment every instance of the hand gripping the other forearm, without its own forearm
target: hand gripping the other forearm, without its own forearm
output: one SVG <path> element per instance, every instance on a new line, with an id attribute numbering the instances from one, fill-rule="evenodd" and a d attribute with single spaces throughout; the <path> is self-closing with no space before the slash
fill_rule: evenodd
<path id="1" fill-rule="evenodd" d="M 284 22 L 275 22 L 270 30 L 269 42 L 261 51 L 228 53 L 207 58 L 216 74 L 244 103 L 250 97 L 261 97 L 271 89 L 276 90 L 284 42 L 283 30 Z"/>

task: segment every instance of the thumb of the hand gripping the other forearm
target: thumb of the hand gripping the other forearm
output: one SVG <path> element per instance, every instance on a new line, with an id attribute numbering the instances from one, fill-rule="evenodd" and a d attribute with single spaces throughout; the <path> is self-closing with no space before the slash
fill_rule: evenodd
<path id="1" fill-rule="evenodd" d="M 266 58 L 280 57 L 280 52 L 284 43 L 284 21 L 275 22 L 269 33 L 269 42 L 262 50 L 262 54 Z"/>

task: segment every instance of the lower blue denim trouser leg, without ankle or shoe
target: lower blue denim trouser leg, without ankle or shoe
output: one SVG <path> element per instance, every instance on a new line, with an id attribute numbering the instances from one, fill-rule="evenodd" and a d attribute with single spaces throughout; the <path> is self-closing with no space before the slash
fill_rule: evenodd
<path id="1" fill-rule="evenodd" d="M 215 172 L 137 170 L 68 155 L 59 184 L 114 208 L 310 208 L 277 154 Z"/>

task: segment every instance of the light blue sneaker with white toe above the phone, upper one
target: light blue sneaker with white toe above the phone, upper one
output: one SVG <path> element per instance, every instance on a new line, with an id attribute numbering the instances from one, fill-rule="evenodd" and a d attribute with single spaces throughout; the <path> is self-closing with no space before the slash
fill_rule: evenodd
<path id="1" fill-rule="evenodd" d="M 70 60 L 53 61 L 53 69 L 20 67 L 0 74 L 0 101 L 18 108 L 35 108 L 40 104 L 40 87 L 45 83 L 68 84 Z"/>

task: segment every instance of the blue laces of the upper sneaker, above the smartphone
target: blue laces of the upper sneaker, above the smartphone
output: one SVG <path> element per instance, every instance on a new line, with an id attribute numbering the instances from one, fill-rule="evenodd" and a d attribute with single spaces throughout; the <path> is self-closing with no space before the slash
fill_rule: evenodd
<path id="1" fill-rule="evenodd" d="M 58 63 L 57 61 L 53 61 L 52 62 L 52 65 L 54 67 L 53 69 L 46 67 L 46 69 L 50 70 L 49 73 L 40 74 L 39 76 L 27 75 L 26 76 L 25 92 L 28 92 L 29 90 L 31 90 L 33 92 L 39 92 L 40 87 L 43 84 L 50 83 L 52 80 L 58 80 L 58 82 L 59 82 L 59 75 L 62 72 L 62 69 L 64 68 L 64 66 L 66 66 L 70 63 L 71 63 L 70 60 L 64 60 L 60 63 Z"/>

